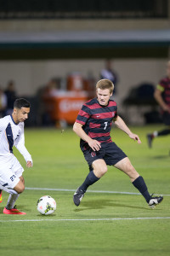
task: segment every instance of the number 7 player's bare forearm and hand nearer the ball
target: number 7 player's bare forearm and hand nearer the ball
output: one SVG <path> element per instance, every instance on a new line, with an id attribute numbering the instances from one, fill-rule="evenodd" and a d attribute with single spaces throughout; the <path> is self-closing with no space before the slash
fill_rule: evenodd
<path id="1" fill-rule="evenodd" d="M 99 148 L 101 148 L 100 143 L 89 137 L 86 132 L 83 131 L 82 124 L 75 122 L 73 125 L 73 131 L 77 134 L 78 137 L 81 137 L 83 141 L 87 142 L 90 148 L 92 148 L 94 151 L 99 151 Z"/>

